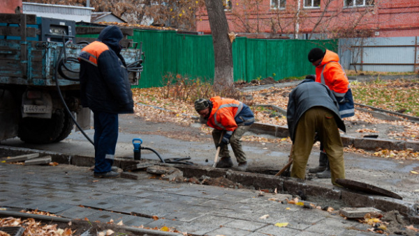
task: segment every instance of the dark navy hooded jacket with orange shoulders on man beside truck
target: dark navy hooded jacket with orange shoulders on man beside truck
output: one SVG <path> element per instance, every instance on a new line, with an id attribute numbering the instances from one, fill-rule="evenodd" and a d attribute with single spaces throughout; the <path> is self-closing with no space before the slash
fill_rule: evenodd
<path id="1" fill-rule="evenodd" d="M 133 113 L 133 95 L 117 26 L 107 26 L 98 39 L 82 49 L 80 91 L 83 107 L 108 113 Z"/>

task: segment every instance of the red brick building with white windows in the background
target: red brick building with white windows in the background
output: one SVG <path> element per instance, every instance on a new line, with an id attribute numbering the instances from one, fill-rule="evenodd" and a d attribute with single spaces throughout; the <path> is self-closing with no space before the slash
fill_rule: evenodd
<path id="1" fill-rule="evenodd" d="M 298 38 L 419 36 L 418 0 L 222 0 L 230 31 Z M 210 33 L 205 9 L 196 31 Z M 314 39 L 314 38 L 312 38 Z"/>

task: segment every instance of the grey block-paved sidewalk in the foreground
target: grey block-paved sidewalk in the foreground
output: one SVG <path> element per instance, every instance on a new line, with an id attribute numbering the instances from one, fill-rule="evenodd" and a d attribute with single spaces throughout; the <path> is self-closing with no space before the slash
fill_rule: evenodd
<path id="1" fill-rule="evenodd" d="M 8 210 L 38 209 L 91 222 L 113 219 L 125 226 L 168 226 L 190 235 L 376 235 L 336 212 L 281 204 L 267 200 L 271 194 L 258 196 L 259 191 L 247 189 L 172 183 L 146 173 L 140 180 L 94 179 L 87 167 L 65 164 L 0 164 L 0 174 L 0 205 Z M 260 219 L 266 214 L 267 219 Z"/>

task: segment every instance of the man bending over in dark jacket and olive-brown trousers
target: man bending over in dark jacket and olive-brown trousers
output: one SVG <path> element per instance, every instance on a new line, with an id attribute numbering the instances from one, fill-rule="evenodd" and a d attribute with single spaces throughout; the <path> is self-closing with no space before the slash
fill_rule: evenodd
<path id="1" fill-rule="evenodd" d="M 344 132 L 346 128 L 335 95 L 327 86 L 304 79 L 289 95 L 286 118 L 293 141 L 291 177 L 304 180 L 317 133 L 330 161 L 332 184 L 337 185 L 337 178 L 345 178 L 344 147 L 338 128 Z"/>

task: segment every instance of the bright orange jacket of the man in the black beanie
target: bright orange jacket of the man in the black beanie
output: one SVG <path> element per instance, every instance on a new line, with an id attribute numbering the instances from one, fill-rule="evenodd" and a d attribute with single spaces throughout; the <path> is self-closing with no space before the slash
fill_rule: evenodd
<path id="1" fill-rule="evenodd" d="M 343 98 L 348 91 L 348 77 L 339 64 L 339 56 L 335 52 L 326 50 L 323 61 L 316 66 L 316 82 L 328 86 L 338 102 L 339 97 Z"/>

